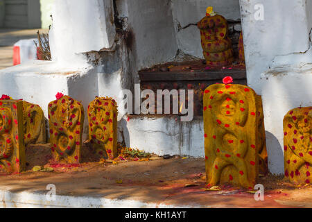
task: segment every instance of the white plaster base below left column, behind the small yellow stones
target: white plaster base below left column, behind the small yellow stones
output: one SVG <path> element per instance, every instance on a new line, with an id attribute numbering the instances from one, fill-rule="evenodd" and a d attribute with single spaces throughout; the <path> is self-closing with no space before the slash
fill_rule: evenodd
<path id="1" fill-rule="evenodd" d="M 92 68 L 60 69 L 54 62 L 34 60 L 0 70 L 0 95 L 40 105 L 48 118 L 48 104 L 62 92 L 83 103 L 84 137 L 88 132 L 87 105 L 98 95 L 97 74 Z"/>

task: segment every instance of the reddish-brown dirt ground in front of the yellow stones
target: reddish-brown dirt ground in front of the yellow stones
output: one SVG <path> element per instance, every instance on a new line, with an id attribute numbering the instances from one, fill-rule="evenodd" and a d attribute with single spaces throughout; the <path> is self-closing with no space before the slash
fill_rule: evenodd
<path id="1" fill-rule="evenodd" d="M 142 159 L 118 162 L 85 162 L 58 164 L 51 162 L 49 144 L 26 149 L 28 171 L 1 175 L 0 189 L 12 192 L 46 192 L 53 183 L 58 195 L 96 196 L 145 203 L 186 205 L 188 207 L 312 207 L 312 187 L 299 187 L 283 176 L 264 176 L 263 201 L 254 194 L 229 186 L 221 191 L 205 191 L 203 158 L 171 157 L 164 160 Z M 147 160 L 147 161 L 146 161 Z M 34 165 L 53 167 L 53 172 L 33 172 Z M 131 206 L 129 206 L 131 207 Z M 135 206 L 133 206 L 135 207 Z"/>

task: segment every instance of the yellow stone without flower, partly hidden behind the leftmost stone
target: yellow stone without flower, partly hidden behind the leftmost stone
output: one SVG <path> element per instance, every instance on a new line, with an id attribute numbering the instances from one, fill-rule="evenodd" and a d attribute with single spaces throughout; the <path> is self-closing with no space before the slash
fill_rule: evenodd
<path id="1" fill-rule="evenodd" d="M 24 143 L 44 144 L 46 142 L 46 123 L 39 105 L 23 101 Z"/>

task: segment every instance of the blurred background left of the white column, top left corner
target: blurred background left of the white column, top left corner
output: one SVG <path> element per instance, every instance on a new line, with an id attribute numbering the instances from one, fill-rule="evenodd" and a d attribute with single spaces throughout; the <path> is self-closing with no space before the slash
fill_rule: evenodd
<path id="1" fill-rule="evenodd" d="M 13 47 L 19 40 L 28 40 L 17 46 L 31 51 L 29 46 L 35 46 L 32 42 L 37 31 L 48 33 L 53 1 L 0 0 L 0 69 L 13 65 Z"/>

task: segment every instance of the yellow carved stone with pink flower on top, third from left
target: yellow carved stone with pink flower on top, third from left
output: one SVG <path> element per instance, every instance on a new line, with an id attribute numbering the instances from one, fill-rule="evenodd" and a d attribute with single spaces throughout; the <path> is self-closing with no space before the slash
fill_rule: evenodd
<path id="1" fill-rule="evenodd" d="M 69 96 L 58 96 L 49 103 L 49 133 L 55 160 L 80 162 L 84 111 L 83 105 Z"/>

